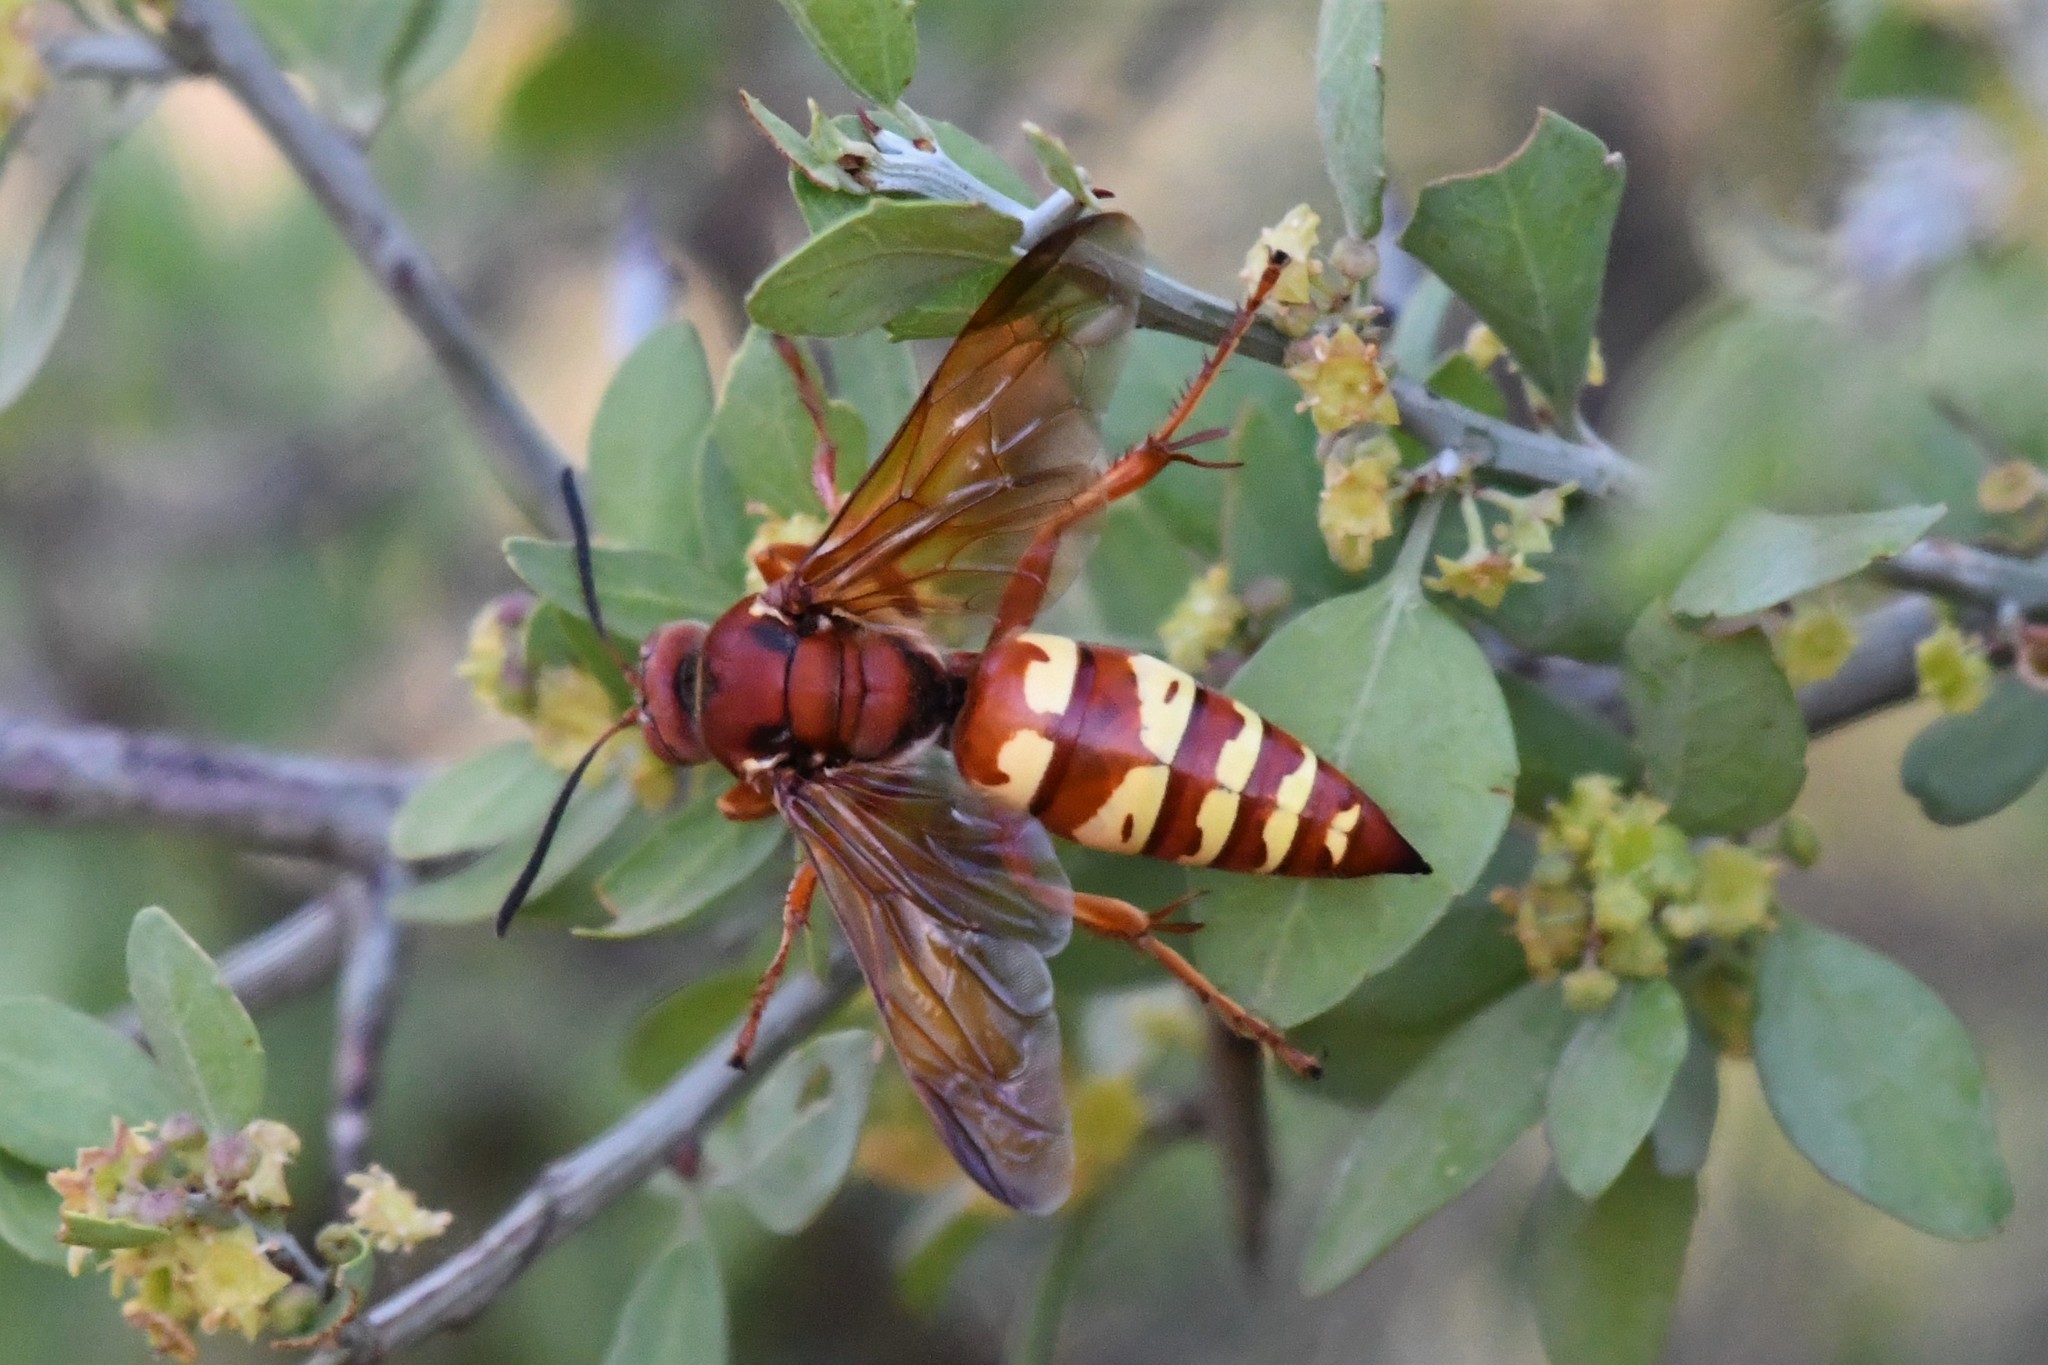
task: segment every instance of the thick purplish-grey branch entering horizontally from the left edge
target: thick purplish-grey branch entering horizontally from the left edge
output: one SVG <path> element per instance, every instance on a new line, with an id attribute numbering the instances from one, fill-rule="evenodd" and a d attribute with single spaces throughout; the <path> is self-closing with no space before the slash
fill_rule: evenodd
<path id="1" fill-rule="evenodd" d="M 391 763 L 0 714 L 0 810 L 45 821 L 147 821 L 369 870 L 416 780 Z"/>

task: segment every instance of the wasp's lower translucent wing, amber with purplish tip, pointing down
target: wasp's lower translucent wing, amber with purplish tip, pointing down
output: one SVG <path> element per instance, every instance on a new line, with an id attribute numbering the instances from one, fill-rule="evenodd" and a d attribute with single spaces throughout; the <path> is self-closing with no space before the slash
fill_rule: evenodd
<path id="1" fill-rule="evenodd" d="M 942 749 L 846 767 L 778 798 L 940 1138 L 1004 1203 L 1073 1183 L 1047 954 L 1073 892 L 1044 829 L 997 810 Z"/>

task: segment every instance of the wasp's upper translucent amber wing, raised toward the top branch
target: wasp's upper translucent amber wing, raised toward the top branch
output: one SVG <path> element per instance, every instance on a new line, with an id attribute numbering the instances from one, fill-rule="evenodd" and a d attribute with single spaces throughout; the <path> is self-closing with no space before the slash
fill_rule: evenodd
<path id="1" fill-rule="evenodd" d="M 1032 534 L 1102 469 L 1102 409 L 1137 323 L 1137 223 L 1047 237 L 975 311 L 889 448 L 797 569 L 784 610 L 985 628 Z M 1087 534 L 1069 532 L 1055 591 Z"/>

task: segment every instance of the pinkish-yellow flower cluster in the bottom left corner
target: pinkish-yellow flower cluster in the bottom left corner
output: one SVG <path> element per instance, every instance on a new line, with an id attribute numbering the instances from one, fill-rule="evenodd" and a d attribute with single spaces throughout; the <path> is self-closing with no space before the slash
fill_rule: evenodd
<path id="1" fill-rule="evenodd" d="M 285 1169 L 299 1134 L 272 1119 L 209 1136 L 186 1115 L 162 1126 L 115 1121 L 113 1142 L 84 1148 L 78 1164 L 49 1175 L 61 1197 L 72 1275 L 106 1271 L 121 1316 L 174 1361 L 195 1361 L 201 1334 L 291 1332 L 319 1289 L 301 1285 L 285 1263 L 283 1220 L 291 1209 Z M 389 1181 L 375 1166 L 371 1177 Z M 350 1185 L 367 1177 L 350 1177 Z M 369 1197 L 369 1195 L 365 1195 Z M 438 1236 L 446 1214 L 424 1214 L 403 1189 L 377 1207 L 350 1209 L 348 1230 L 381 1250 Z M 387 1209 L 410 1209 L 397 1236 Z"/>

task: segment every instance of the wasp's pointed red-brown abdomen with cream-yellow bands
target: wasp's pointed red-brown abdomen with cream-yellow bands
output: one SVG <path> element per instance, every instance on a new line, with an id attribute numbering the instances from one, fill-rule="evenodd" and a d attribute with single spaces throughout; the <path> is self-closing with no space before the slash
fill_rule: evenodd
<path id="1" fill-rule="evenodd" d="M 1092 849 L 1280 876 L 1430 870 L 1298 739 L 1122 649 L 997 641 L 969 681 L 952 753 L 983 792 Z"/>

